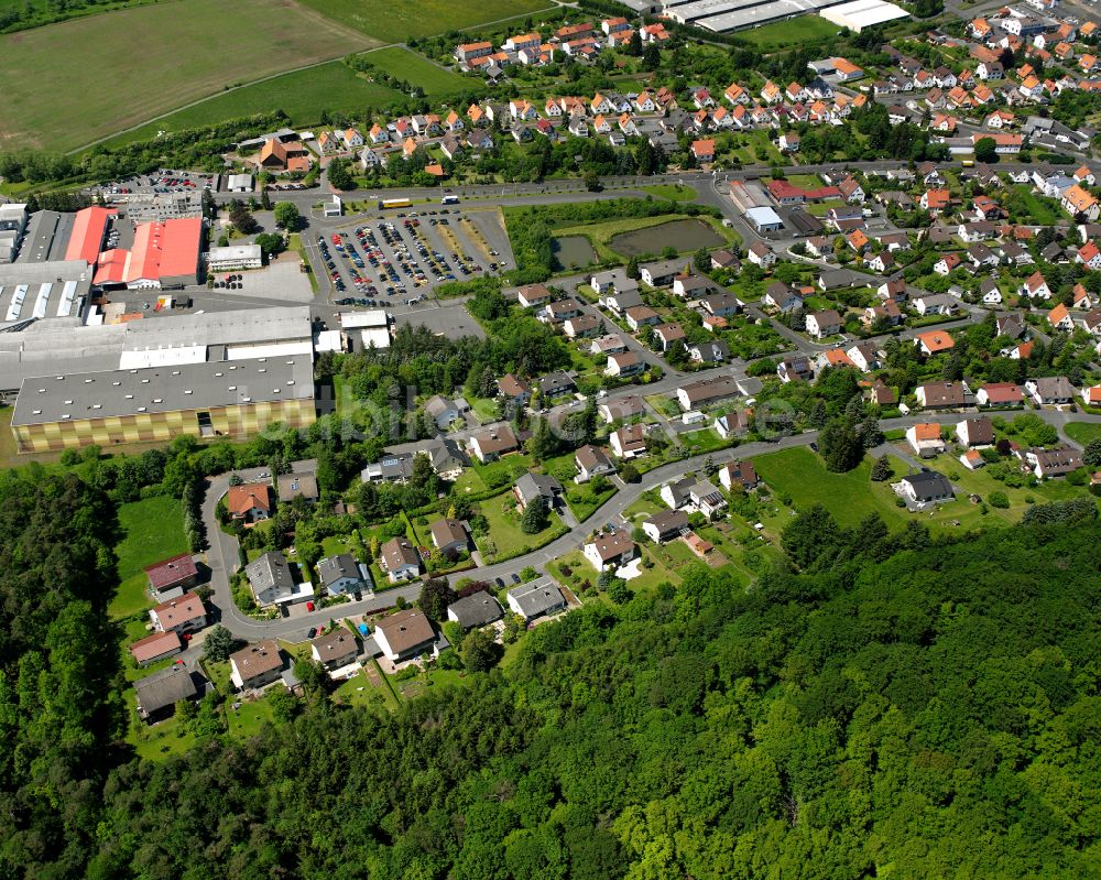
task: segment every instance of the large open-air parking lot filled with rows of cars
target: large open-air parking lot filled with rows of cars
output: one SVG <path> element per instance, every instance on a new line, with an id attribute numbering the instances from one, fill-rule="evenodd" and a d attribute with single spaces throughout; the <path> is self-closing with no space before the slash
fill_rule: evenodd
<path id="1" fill-rule="evenodd" d="M 416 305 L 435 285 L 512 268 L 503 230 L 461 213 L 410 211 L 317 236 L 309 247 L 318 279 L 338 305 Z"/>

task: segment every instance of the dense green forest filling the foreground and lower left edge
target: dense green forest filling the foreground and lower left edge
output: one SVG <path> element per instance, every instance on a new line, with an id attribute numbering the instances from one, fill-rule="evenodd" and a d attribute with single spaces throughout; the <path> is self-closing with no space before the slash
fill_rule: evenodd
<path id="1" fill-rule="evenodd" d="M 1092 503 L 931 539 L 794 518 L 723 572 L 527 633 L 389 714 L 314 694 L 249 741 L 121 742 L 115 502 L 0 478 L 12 878 L 1097 877 Z"/>

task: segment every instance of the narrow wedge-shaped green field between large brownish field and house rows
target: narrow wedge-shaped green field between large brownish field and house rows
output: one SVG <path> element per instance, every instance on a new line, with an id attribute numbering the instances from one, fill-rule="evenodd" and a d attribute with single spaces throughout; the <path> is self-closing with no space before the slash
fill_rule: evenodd
<path id="1" fill-rule="evenodd" d="M 181 131 L 269 110 L 283 110 L 296 126 L 314 124 L 323 110 L 362 113 L 367 107 L 384 107 L 400 93 L 368 82 L 335 61 L 306 70 L 283 74 L 263 83 L 243 86 L 170 113 L 155 122 L 107 141 L 117 146 L 156 137 L 157 131 Z"/>

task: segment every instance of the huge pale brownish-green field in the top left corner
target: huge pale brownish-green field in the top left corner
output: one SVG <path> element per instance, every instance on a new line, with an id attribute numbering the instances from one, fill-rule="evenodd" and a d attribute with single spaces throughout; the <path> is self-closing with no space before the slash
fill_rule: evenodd
<path id="1" fill-rule="evenodd" d="M 9 34 L 0 77 L 19 88 L 0 94 L 0 149 L 72 150 L 229 85 L 370 45 L 279 0 L 177 0 Z"/>

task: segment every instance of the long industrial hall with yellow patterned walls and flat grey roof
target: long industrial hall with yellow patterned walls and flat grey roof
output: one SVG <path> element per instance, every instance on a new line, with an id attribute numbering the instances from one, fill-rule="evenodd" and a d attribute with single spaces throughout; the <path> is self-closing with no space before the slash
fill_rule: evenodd
<path id="1" fill-rule="evenodd" d="M 179 434 L 244 437 L 315 419 L 313 358 L 261 357 L 29 378 L 11 430 L 20 452 L 43 453 Z"/>

